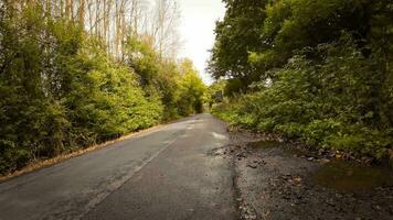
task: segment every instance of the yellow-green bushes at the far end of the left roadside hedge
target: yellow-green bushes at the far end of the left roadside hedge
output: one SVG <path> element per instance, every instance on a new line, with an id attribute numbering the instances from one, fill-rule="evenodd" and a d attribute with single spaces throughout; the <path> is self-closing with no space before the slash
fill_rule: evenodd
<path id="1" fill-rule="evenodd" d="M 125 55 L 147 96 L 164 103 L 164 120 L 202 112 L 206 88 L 191 61 L 184 59 L 179 65 L 162 61 L 151 46 L 135 37 L 129 38 Z"/>

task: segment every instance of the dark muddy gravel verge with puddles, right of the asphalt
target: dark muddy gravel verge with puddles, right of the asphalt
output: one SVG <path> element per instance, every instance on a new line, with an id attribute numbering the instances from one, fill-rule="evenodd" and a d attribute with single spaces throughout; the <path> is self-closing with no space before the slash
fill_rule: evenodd
<path id="1" fill-rule="evenodd" d="M 220 154 L 233 158 L 242 219 L 393 220 L 392 170 L 249 132 Z"/>

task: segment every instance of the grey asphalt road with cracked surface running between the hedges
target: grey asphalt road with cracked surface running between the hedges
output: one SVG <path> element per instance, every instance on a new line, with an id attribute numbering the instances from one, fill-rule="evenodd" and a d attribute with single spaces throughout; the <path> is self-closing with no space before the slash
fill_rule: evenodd
<path id="1" fill-rule="evenodd" d="M 237 219 L 225 125 L 198 114 L 0 184 L 0 220 Z"/>

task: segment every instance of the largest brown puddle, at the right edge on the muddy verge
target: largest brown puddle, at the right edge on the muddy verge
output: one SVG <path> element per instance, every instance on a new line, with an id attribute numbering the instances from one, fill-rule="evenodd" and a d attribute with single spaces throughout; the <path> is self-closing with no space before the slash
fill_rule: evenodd
<path id="1" fill-rule="evenodd" d="M 312 182 L 341 191 L 357 191 L 393 186 L 393 174 L 381 167 L 331 161 L 312 175 Z"/>

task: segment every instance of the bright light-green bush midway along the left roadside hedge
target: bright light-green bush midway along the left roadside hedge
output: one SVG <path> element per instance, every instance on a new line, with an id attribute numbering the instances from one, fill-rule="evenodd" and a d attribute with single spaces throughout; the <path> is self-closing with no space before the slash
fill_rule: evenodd
<path id="1" fill-rule="evenodd" d="M 85 68 L 81 72 L 75 66 Z M 64 92 L 65 106 L 73 128 L 87 132 L 84 138 L 92 140 L 92 134 L 93 140 L 107 140 L 160 121 L 162 105 L 146 98 L 136 74 L 111 62 L 93 40 L 85 42 L 67 67 L 72 76 L 70 91 Z"/>

